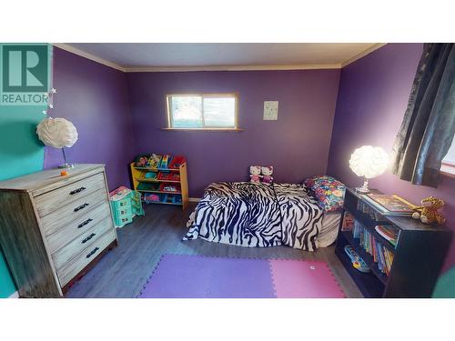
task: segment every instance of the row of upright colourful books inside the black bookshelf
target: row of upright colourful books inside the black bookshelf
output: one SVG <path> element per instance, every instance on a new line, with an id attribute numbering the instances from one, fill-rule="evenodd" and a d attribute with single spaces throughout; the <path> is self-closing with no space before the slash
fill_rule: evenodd
<path id="1" fill-rule="evenodd" d="M 359 245 L 373 257 L 373 261 L 378 264 L 379 271 L 389 276 L 393 262 L 393 253 L 389 251 L 387 247 L 379 243 L 379 241 L 357 221 L 354 222 L 352 234 L 354 238 L 359 238 Z"/>

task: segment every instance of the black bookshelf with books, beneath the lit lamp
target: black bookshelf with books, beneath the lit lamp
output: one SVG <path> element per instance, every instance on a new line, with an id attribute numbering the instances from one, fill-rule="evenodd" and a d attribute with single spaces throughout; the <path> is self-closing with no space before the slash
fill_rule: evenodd
<path id="1" fill-rule="evenodd" d="M 371 190 L 371 193 L 380 194 Z M 359 202 L 368 206 L 372 215 L 359 210 Z M 353 216 L 375 239 L 394 254 L 389 276 L 380 272 L 373 257 L 359 245 L 359 238 L 354 238 L 351 231 L 342 231 L 343 216 Z M 450 246 L 450 229 L 438 225 L 425 225 L 419 220 L 403 216 L 384 216 L 358 192 L 347 188 L 342 217 L 339 222 L 339 236 L 335 253 L 348 271 L 359 290 L 365 297 L 430 297 L 440 268 Z M 393 246 L 380 236 L 377 225 L 397 226 L 399 240 Z M 369 273 L 359 272 L 351 264 L 344 246 L 352 246 L 371 269 Z"/>

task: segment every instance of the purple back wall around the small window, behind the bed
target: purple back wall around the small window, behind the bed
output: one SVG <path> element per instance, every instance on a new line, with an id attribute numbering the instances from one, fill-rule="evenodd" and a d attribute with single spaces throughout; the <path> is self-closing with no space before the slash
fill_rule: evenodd
<path id="1" fill-rule="evenodd" d="M 131 73 L 126 75 L 136 152 L 186 155 L 190 196 L 215 181 L 249 180 L 249 165 L 274 165 L 277 182 L 324 174 L 339 70 Z M 243 132 L 169 132 L 165 95 L 238 92 Z M 278 121 L 263 102 L 278 100 Z"/>

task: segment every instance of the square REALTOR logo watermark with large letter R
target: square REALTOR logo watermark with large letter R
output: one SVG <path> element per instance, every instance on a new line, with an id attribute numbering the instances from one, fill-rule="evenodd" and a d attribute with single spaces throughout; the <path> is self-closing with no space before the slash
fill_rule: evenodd
<path id="1" fill-rule="evenodd" d="M 0 105 L 46 105 L 49 46 L 0 45 Z"/>

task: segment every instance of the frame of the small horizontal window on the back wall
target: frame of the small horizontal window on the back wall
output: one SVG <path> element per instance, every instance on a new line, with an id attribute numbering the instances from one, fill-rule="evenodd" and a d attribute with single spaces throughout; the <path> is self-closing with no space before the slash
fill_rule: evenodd
<path id="1" fill-rule="evenodd" d="M 172 96 L 200 96 L 202 99 L 202 127 L 192 128 L 192 127 L 174 127 L 172 126 L 172 115 L 170 108 L 170 98 Z M 235 113 L 234 113 L 234 126 L 206 126 L 204 122 L 204 98 L 207 97 L 229 97 L 235 98 Z M 166 117 L 167 117 L 167 128 L 165 130 L 208 130 L 208 131 L 241 131 L 238 127 L 238 93 L 185 93 L 185 94 L 167 94 L 166 95 Z"/>

